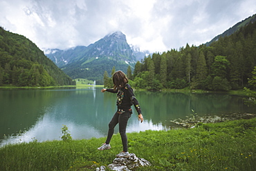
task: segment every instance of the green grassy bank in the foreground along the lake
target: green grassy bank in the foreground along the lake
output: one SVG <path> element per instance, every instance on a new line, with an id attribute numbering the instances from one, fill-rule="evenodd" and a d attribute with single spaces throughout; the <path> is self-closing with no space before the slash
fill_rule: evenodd
<path id="1" fill-rule="evenodd" d="M 72 136 L 72 132 L 71 132 Z M 129 152 L 151 167 L 136 170 L 255 170 L 256 119 L 207 123 L 193 129 L 127 134 Z M 111 150 L 98 151 L 105 141 L 36 140 L 0 148 L 0 170 L 95 170 L 112 163 L 122 150 L 120 135 Z"/>

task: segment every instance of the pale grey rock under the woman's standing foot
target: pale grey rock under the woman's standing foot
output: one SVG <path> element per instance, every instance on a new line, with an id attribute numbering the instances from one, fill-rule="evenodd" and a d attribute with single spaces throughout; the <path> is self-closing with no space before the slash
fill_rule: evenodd
<path id="1" fill-rule="evenodd" d="M 151 163 L 149 161 L 138 158 L 134 153 L 130 154 L 129 158 L 116 158 L 113 160 L 113 163 L 109 164 L 107 167 L 110 168 L 111 170 L 116 170 L 116 171 L 130 171 L 130 169 L 133 168 L 138 168 L 138 167 L 144 167 L 144 166 L 150 166 Z"/>

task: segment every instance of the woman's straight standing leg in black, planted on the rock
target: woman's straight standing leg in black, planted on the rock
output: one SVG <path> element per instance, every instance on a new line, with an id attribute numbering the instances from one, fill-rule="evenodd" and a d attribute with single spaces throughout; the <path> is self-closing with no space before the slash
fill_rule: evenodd
<path id="1" fill-rule="evenodd" d="M 131 117 L 131 112 L 125 112 L 119 115 L 119 133 L 122 139 L 122 148 L 124 152 L 128 151 L 127 145 L 127 135 L 126 135 L 126 127 L 129 118 Z"/>

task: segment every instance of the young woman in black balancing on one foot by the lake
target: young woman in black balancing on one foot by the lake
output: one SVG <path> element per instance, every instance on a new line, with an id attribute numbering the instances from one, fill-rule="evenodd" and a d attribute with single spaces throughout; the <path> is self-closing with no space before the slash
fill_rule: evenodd
<path id="1" fill-rule="evenodd" d="M 101 92 L 113 92 L 116 94 L 116 105 L 118 107 L 116 113 L 113 115 L 113 118 L 109 122 L 109 132 L 107 134 L 107 140 L 105 143 L 98 148 L 98 150 L 109 150 L 110 140 L 114 132 L 115 126 L 119 123 L 119 132 L 122 139 L 122 152 L 116 155 L 116 157 L 129 157 L 128 145 L 127 145 L 127 136 L 126 136 L 126 127 L 128 119 L 131 117 L 131 105 L 134 105 L 136 111 L 138 112 L 138 120 L 143 122 L 143 114 L 141 114 L 140 105 L 136 97 L 134 96 L 134 91 L 131 86 L 128 84 L 128 79 L 125 76 L 125 73 L 122 71 L 117 71 L 113 74 L 113 89 L 103 88 Z"/>

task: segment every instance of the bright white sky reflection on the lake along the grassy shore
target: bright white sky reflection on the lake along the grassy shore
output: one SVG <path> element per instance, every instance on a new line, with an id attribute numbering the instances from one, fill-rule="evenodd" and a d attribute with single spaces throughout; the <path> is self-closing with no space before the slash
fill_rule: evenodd
<path id="1" fill-rule="evenodd" d="M 71 137 L 73 139 L 90 139 L 92 137 L 100 138 L 107 136 L 107 132 L 102 132 L 97 130 L 88 123 L 86 124 L 76 124 L 65 119 L 55 120 L 50 117 L 50 114 L 45 114 L 43 118 L 39 119 L 35 125 L 33 125 L 27 132 L 10 136 L 8 139 L 3 139 L 1 145 L 8 143 L 23 143 L 37 140 L 51 141 L 51 140 L 61 140 L 63 123 L 68 127 L 71 132 Z M 105 123 L 107 129 L 107 122 Z M 118 130 L 116 128 L 116 130 Z M 127 126 L 127 132 L 138 132 L 145 130 L 167 130 L 167 128 L 161 124 L 154 125 L 152 121 L 145 121 L 139 123 L 138 121 L 130 121 Z M 107 131 L 107 130 L 106 130 Z M 117 131 L 116 131 L 117 133 Z"/>

